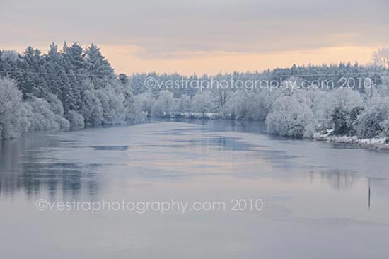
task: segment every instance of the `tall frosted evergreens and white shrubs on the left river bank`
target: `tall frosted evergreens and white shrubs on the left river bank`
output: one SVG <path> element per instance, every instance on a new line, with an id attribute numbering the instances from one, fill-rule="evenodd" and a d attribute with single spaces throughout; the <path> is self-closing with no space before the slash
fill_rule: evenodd
<path id="1" fill-rule="evenodd" d="M 0 51 L 0 139 L 25 130 L 141 122 L 127 76 L 114 73 L 100 49 L 54 43 Z"/>

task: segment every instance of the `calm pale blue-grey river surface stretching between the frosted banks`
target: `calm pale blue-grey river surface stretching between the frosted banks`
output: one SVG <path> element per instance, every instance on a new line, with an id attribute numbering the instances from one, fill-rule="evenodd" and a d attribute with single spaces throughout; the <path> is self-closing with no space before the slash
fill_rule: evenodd
<path id="1" fill-rule="evenodd" d="M 1 142 L 0 229 L 0 258 L 388 258 L 389 154 L 257 122 L 35 132 Z"/>

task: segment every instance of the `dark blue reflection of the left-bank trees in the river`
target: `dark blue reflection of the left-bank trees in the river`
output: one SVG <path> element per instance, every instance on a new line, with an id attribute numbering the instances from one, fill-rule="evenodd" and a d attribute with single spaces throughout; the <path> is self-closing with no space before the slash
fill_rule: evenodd
<path id="1" fill-rule="evenodd" d="M 47 192 L 50 197 L 93 196 L 99 183 L 93 169 L 53 157 L 62 146 L 59 137 L 29 134 L 20 139 L 0 142 L 0 195 L 23 190 L 28 196 Z"/>

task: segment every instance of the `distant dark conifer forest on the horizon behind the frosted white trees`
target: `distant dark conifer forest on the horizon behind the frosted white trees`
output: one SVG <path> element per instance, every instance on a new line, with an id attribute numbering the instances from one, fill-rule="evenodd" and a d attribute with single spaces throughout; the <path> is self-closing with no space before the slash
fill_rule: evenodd
<path id="1" fill-rule="evenodd" d="M 317 82 L 328 82 L 328 90 L 333 90 L 337 88 L 351 88 L 354 86 L 354 89 L 360 91 L 361 93 L 366 92 L 364 87 L 364 79 L 371 79 L 371 82 L 375 85 L 381 85 L 383 83 L 383 77 L 388 75 L 388 70 L 383 67 L 376 65 L 361 65 L 358 62 L 354 64 L 347 62 L 341 62 L 339 64 L 321 64 L 313 65 L 308 64 L 308 66 L 296 66 L 293 65 L 290 68 L 277 68 L 277 69 L 268 69 L 266 71 L 255 71 L 255 72 L 233 72 L 226 74 L 216 74 L 216 75 L 192 75 L 192 76 L 182 76 L 180 74 L 156 74 L 156 73 L 142 73 L 142 74 L 132 74 L 130 76 L 130 81 L 132 85 L 132 90 L 134 94 L 145 93 L 149 90 L 153 94 L 158 94 L 159 91 L 169 90 L 173 92 L 175 97 L 180 97 L 182 94 L 187 96 L 194 96 L 199 88 L 196 87 L 166 87 L 166 84 L 162 84 L 168 80 L 178 82 L 180 86 L 182 82 L 194 82 L 194 81 L 223 81 L 228 82 L 233 79 L 233 81 L 269 81 L 270 83 L 274 81 L 273 85 L 279 83 L 279 81 L 289 80 L 291 78 L 298 79 L 300 81 L 312 82 L 317 84 Z M 145 84 L 146 79 L 155 79 L 160 84 L 156 87 L 148 87 Z M 188 85 L 187 85 L 188 86 Z M 194 84 L 192 85 L 194 86 Z M 257 87 L 260 88 L 260 87 Z M 233 90 L 233 89 L 232 89 Z M 260 90 L 260 89 L 258 89 Z"/>

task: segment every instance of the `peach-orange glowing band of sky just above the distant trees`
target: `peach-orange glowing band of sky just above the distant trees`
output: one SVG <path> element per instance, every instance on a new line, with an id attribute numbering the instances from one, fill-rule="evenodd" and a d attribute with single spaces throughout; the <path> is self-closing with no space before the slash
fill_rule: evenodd
<path id="1" fill-rule="evenodd" d="M 115 71 L 132 74 L 156 71 L 157 73 L 217 74 L 231 71 L 261 71 L 268 68 L 291 67 L 292 64 L 354 62 L 358 53 L 359 62 L 369 62 L 374 47 L 325 47 L 301 51 L 268 53 L 242 52 L 186 52 L 169 59 L 144 59 L 141 48 L 134 46 L 100 46 Z M 124 54 L 127 53 L 127 54 Z M 182 57 L 184 56 L 184 57 Z"/>

